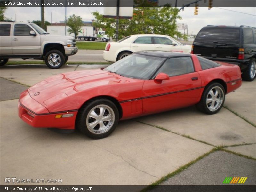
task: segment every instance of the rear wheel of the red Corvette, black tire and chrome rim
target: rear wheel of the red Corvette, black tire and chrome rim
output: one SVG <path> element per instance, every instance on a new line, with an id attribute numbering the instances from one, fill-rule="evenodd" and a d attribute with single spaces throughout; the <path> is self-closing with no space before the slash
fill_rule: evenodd
<path id="1" fill-rule="evenodd" d="M 212 115 L 222 108 L 224 101 L 224 87 L 220 83 L 211 83 L 204 89 L 201 100 L 196 104 L 196 107 L 199 111 Z"/>

